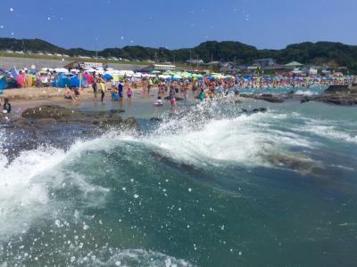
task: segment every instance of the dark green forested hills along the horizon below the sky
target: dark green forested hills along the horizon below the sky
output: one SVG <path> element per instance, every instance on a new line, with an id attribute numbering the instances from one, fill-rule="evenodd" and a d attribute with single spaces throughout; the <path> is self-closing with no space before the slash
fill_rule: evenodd
<path id="1" fill-rule="evenodd" d="M 95 56 L 95 51 L 81 48 L 64 49 L 40 39 L 0 38 L 0 50 L 31 51 L 46 53 L 65 53 L 70 56 Z M 143 46 L 125 46 L 107 48 L 98 52 L 98 56 L 117 57 L 136 60 L 177 61 L 192 59 L 209 61 L 237 61 L 238 64 L 251 64 L 254 59 L 274 58 L 280 64 L 299 61 L 304 64 L 329 64 L 344 66 L 357 71 L 357 45 L 318 42 L 291 44 L 281 50 L 259 50 L 252 45 L 239 42 L 208 41 L 193 48 L 168 50 L 166 48 L 150 48 Z"/>

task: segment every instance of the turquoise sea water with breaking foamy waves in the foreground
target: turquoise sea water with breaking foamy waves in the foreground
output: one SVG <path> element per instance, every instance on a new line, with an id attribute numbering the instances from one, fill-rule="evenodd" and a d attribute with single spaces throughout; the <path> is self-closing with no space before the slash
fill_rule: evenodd
<path id="1" fill-rule="evenodd" d="M 0 158 L 0 263 L 357 264 L 355 108 L 180 105 L 145 134 Z"/>

